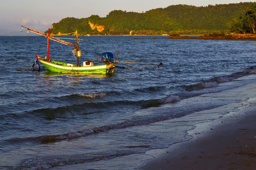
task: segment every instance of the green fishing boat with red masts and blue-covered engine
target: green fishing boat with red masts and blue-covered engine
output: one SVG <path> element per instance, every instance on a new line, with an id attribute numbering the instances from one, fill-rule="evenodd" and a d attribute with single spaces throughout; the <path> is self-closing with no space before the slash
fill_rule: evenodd
<path id="1" fill-rule="evenodd" d="M 21 26 L 23 31 L 23 28 L 26 28 L 31 32 L 34 32 L 36 34 L 40 34 L 42 36 L 47 37 L 47 47 L 48 47 L 48 55 L 42 59 L 39 58 L 39 61 L 44 65 L 45 68 L 49 72 L 56 72 L 56 73 L 83 73 L 83 74 L 113 74 L 116 68 L 116 65 L 113 61 L 113 54 L 110 52 L 106 52 L 102 54 L 101 59 L 98 59 L 98 64 L 94 65 L 94 61 L 84 61 L 82 65 L 79 64 L 79 57 L 81 57 L 81 51 L 79 50 L 79 39 L 77 31 L 75 32 L 76 36 L 76 44 L 64 41 L 60 38 L 53 37 L 50 35 L 50 30 L 48 29 L 48 34 L 41 33 L 39 31 L 32 30 L 30 28 L 27 28 L 25 26 Z M 74 47 L 74 56 L 76 55 L 76 64 L 70 64 L 66 62 L 61 61 L 55 61 L 52 59 L 49 59 L 49 40 L 54 40 L 56 42 L 60 42 L 65 45 L 70 45 Z M 116 56 L 117 57 L 117 56 Z M 103 62 L 103 64 L 99 64 L 99 62 Z M 32 66 L 34 69 L 34 65 Z M 40 68 L 39 68 L 40 71 Z"/>

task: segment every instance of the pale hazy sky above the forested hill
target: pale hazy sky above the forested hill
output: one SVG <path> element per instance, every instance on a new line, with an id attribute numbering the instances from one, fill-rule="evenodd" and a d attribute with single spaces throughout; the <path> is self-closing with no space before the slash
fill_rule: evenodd
<path id="1" fill-rule="evenodd" d="M 208 6 L 251 0 L 0 0 L 0 35 L 24 35 L 21 26 L 44 32 L 66 17 L 87 18 L 113 10 L 146 12 L 171 5 Z M 33 34 L 33 33 L 32 33 Z"/>

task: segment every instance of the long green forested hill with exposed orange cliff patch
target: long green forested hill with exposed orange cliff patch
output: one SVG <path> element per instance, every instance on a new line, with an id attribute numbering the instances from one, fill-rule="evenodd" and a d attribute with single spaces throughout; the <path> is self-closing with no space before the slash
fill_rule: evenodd
<path id="1" fill-rule="evenodd" d="M 231 3 L 209 6 L 175 5 L 143 13 L 111 11 L 106 17 L 67 17 L 53 23 L 51 33 L 78 31 L 86 34 L 209 34 L 229 33 L 230 23 L 241 17 L 245 8 L 256 3 Z"/>

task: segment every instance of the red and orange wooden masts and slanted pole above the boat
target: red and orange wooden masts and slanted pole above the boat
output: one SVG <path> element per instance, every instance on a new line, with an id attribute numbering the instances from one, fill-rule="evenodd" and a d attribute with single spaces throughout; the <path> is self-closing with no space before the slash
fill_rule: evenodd
<path id="1" fill-rule="evenodd" d="M 28 30 L 28 34 L 29 34 L 29 31 L 31 31 L 31 32 L 34 32 L 34 33 L 36 33 L 36 34 L 39 34 L 39 35 L 42 35 L 42 36 L 44 36 L 44 37 L 47 37 L 47 48 L 48 48 L 48 56 L 47 56 L 47 62 L 49 62 L 49 40 L 53 40 L 53 41 L 56 41 L 56 42 L 60 42 L 60 43 L 62 43 L 62 44 L 65 44 L 65 45 L 70 45 L 70 46 L 73 46 L 73 47 L 75 47 L 75 54 L 76 54 L 76 56 L 77 56 L 77 66 L 79 66 L 79 57 L 81 56 L 81 51 L 79 51 L 79 45 L 78 45 L 78 43 L 79 43 L 79 39 L 78 39 L 78 34 L 77 34 L 77 31 L 76 31 L 76 44 L 73 44 L 73 43 L 70 43 L 70 42 L 67 42 L 67 41 L 64 41 L 64 40 L 61 40 L 61 39 L 59 39 L 59 38 L 55 38 L 55 37 L 52 37 L 51 35 L 50 35 L 50 29 L 48 28 L 48 34 L 44 34 L 44 33 L 42 33 L 42 32 L 39 32 L 39 31 L 35 31 L 35 30 L 33 30 L 33 29 L 30 29 L 30 28 L 28 28 L 28 27 L 25 27 L 25 26 L 21 26 L 22 27 L 22 29 L 21 29 L 21 31 L 23 31 L 23 28 L 26 28 L 27 30 Z"/>

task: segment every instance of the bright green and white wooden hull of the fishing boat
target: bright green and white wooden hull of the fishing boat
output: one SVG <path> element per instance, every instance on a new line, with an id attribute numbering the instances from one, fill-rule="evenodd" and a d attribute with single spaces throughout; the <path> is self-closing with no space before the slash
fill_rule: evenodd
<path id="1" fill-rule="evenodd" d="M 113 74 L 116 67 L 112 63 L 104 65 L 93 65 L 93 66 L 64 66 L 67 63 L 51 61 L 47 62 L 43 59 L 40 59 L 40 62 L 49 72 L 56 73 L 83 73 L 83 74 Z"/>

